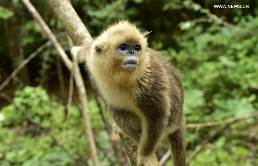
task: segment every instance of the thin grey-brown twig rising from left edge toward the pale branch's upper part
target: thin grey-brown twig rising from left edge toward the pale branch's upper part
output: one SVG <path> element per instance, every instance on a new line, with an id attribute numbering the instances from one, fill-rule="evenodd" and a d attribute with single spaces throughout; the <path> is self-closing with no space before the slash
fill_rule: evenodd
<path id="1" fill-rule="evenodd" d="M 66 33 L 65 32 L 60 32 L 58 33 L 58 35 L 56 35 L 57 38 L 64 36 Z M 52 44 L 51 41 L 47 41 L 46 43 L 44 43 L 42 46 L 40 46 L 38 49 L 36 49 L 36 51 L 34 51 L 30 56 L 28 56 L 24 61 L 21 62 L 21 64 L 11 73 L 11 75 L 9 75 L 9 77 L 7 77 L 7 79 L 0 85 L 0 91 L 3 90 L 3 88 L 11 81 L 11 79 L 13 79 L 13 77 L 32 59 L 34 58 L 36 55 L 38 55 L 38 53 L 40 53 L 44 48 L 46 48 L 47 46 L 49 46 L 50 44 Z"/>

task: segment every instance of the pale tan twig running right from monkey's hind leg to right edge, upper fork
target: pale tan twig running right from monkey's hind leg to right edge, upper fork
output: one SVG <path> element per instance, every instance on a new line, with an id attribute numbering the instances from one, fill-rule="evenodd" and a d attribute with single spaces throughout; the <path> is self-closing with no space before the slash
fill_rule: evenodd
<path id="1" fill-rule="evenodd" d="M 249 115 L 244 115 L 242 117 L 234 118 L 234 119 L 226 119 L 224 121 L 214 121 L 214 122 L 206 122 L 206 123 L 196 123 L 196 124 L 187 124 L 187 128 L 201 128 L 201 127 L 206 127 L 206 126 L 216 126 L 216 125 L 223 125 L 223 124 L 230 124 L 230 123 L 235 123 L 237 121 L 241 121 L 247 118 L 251 117 L 256 117 L 258 116 L 258 113 L 252 113 Z"/>

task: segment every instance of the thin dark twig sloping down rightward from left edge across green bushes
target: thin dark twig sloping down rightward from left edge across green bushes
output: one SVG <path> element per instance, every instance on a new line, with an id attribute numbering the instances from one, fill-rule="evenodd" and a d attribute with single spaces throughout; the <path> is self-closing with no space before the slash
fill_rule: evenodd
<path id="1" fill-rule="evenodd" d="M 54 137 L 54 135 L 53 135 L 52 133 L 49 133 L 49 131 L 50 131 L 49 128 L 44 127 L 44 126 L 42 125 L 42 123 L 40 123 L 39 121 L 35 121 L 34 119 L 30 118 L 30 117 L 26 114 L 26 112 L 23 111 L 20 107 L 18 107 L 18 106 L 12 101 L 12 99 L 11 99 L 8 95 L 6 95 L 5 93 L 0 93 L 0 96 L 2 96 L 3 98 L 5 98 L 5 99 L 6 99 L 7 101 L 9 101 L 11 104 L 13 104 L 14 107 L 15 107 L 18 111 L 20 111 L 28 121 L 30 121 L 31 123 L 33 123 L 33 124 L 35 124 L 35 125 L 38 125 L 39 127 L 41 127 L 41 128 L 43 129 L 43 131 L 44 131 L 45 133 L 48 133 L 48 134 L 50 135 L 50 137 L 52 138 L 52 140 L 56 143 L 56 145 L 60 146 L 60 147 L 63 149 L 63 151 L 64 151 L 65 153 L 67 153 L 67 155 L 75 162 L 75 164 L 78 163 L 78 162 L 77 162 L 77 159 L 75 159 L 75 157 L 74 157 L 63 145 L 60 145 L 60 144 L 58 143 L 58 141 L 57 141 L 57 139 Z"/>

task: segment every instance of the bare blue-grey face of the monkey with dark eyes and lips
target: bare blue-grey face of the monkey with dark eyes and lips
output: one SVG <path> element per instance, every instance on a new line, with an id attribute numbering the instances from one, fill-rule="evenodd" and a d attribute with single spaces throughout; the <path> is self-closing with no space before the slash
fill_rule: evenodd
<path id="1" fill-rule="evenodd" d="M 139 43 L 120 43 L 117 47 L 117 53 L 125 56 L 122 61 L 122 67 L 128 71 L 134 71 L 137 68 L 138 59 L 136 56 L 140 56 L 142 48 Z"/>

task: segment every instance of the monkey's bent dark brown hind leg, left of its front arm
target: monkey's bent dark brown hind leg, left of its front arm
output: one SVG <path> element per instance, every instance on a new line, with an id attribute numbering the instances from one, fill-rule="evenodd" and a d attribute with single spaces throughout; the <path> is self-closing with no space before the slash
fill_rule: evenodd
<path id="1" fill-rule="evenodd" d="M 141 134 L 140 118 L 134 113 L 124 109 L 120 110 L 112 106 L 107 106 L 107 109 L 122 132 L 138 144 Z"/>

